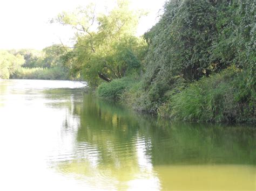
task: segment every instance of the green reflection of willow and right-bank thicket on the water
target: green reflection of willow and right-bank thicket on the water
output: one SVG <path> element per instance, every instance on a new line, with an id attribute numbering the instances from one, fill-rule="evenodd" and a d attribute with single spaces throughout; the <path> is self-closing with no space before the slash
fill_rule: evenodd
<path id="1" fill-rule="evenodd" d="M 103 163 L 117 160 L 114 151 L 123 143 L 132 146 L 123 146 L 122 152 L 136 152 L 138 138 L 154 165 L 255 164 L 253 128 L 157 121 L 91 96 L 84 98 L 77 141 L 98 145 Z"/>

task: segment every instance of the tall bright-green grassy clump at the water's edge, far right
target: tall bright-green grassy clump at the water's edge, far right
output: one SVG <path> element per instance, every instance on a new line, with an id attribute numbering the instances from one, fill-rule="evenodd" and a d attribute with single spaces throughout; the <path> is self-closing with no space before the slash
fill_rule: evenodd
<path id="1" fill-rule="evenodd" d="M 161 116 L 186 121 L 255 121 L 255 83 L 246 85 L 246 71 L 226 69 L 191 83 L 158 109 Z"/>

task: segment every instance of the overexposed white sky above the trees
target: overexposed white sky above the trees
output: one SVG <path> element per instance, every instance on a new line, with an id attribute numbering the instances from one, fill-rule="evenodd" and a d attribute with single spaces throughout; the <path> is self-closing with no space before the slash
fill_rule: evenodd
<path id="1" fill-rule="evenodd" d="M 158 20 L 159 10 L 166 0 L 130 0 L 133 9 L 144 9 L 149 14 L 140 20 L 137 35 L 149 30 Z M 70 27 L 50 24 L 62 11 L 96 3 L 98 11 L 113 6 L 114 0 L 1 0 L 0 49 L 42 49 L 52 44 L 72 44 Z"/>

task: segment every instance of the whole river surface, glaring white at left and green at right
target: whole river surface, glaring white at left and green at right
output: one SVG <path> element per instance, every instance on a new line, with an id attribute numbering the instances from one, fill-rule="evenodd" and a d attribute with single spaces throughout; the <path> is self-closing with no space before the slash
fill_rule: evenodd
<path id="1" fill-rule="evenodd" d="M 0 80 L 5 187 L 255 190 L 253 126 L 159 121 L 81 86 Z"/>

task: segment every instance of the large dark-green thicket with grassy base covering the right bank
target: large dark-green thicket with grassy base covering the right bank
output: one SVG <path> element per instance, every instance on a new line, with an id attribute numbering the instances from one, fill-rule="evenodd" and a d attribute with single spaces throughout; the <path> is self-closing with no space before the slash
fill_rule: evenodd
<path id="1" fill-rule="evenodd" d="M 255 29 L 253 0 L 167 2 L 144 35 L 144 79 L 123 97 L 160 116 L 255 122 Z"/>

